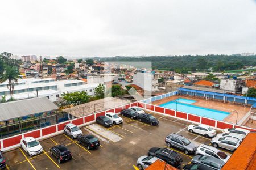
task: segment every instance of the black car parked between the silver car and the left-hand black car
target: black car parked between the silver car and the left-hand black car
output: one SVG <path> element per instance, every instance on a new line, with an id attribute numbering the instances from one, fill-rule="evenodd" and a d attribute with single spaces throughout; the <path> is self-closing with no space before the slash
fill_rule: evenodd
<path id="1" fill-rule="evenodd" d="M 88 150 L 98 148 L 101 145 L 98 138 L 94 137 L 94 135 L 82 135 L 77 137 L 77 142 L 86 146 Z"/>

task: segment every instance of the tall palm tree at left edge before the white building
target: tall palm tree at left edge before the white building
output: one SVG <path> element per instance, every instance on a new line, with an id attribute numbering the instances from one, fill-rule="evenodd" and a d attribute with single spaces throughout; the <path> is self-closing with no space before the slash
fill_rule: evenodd
<path id="1" fill-rule="evenodd" d="M 0 83 L 8 81 L 7 88 L 10 91 L 11 99 L 13 99 L 14 82 L 19 79 L 19 69 L 16 66 L 5 66 L 5 71 L 0 75 Z"/>

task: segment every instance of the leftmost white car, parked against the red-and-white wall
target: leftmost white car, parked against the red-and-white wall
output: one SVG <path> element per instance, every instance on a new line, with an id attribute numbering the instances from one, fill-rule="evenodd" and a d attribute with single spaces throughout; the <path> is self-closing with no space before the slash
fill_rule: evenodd
<path id="1" fill-rule="evenodd" d="M 20 140 L 20 146 L 28 155 L 34 156 L 43 152 L 43 147 L 38 141 L 33 137 L 26 137 Z"/>

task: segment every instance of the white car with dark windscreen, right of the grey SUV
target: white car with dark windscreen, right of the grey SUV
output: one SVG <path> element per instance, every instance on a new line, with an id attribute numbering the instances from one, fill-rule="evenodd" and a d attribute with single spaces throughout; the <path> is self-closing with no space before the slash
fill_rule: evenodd
<path id="1" fill-rule="evenodd" d="M 226 155 L 225 152 L 221 152 L 215 147 L 204 144 L 201 144 L 199 147 L 197 147 L 196 155 L 213 156 L 214 158 L 223 160 L 224 162 L 227 162 L 230 158 L 230 156 Z"/>

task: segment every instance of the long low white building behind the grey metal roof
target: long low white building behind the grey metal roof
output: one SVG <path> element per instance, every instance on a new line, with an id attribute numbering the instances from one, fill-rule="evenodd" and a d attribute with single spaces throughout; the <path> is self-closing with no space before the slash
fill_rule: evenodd
<path id="1" fill-rule="evenodd" d="M 56 101 L 62 93 L 86 91 L 88 95 L 94 95 L 97 83 L 83 84 L 82 80 L 61 80 L 55 81 L 52 78 L 46 79 L 19 79 L 14 84 L 14 99 L 27 99 L 30 97 L 48 97 L 51 101 Z M 0 84 L 0 97 L 6 96 L 10 99 L 10 92 L 7 82 Z"/>

